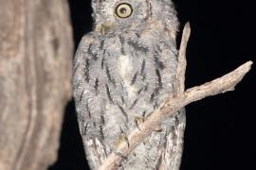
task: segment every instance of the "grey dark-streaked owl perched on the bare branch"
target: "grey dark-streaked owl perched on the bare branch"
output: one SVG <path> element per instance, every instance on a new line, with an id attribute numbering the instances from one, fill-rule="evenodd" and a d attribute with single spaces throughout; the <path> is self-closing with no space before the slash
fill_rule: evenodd
<path id="1" fill-rule="evenodd" d="M 170 0 L 93 0 L 94 30 L 74 59 L 73 89 L 87 161 L 97 169 L 174 93 L 178 21 Z M 155 128 L 119 169 L 177 170 L 185 110 Z"/>

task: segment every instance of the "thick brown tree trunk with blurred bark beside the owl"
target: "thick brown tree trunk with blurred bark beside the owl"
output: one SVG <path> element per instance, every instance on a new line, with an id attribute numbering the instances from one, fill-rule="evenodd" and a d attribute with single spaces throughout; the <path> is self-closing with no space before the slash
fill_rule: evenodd
<path id="1" fill-rule="evenodd" d="M 0 170 L 46 169 L 71 96 L 67 2 L 0 0 L 0 40 Z"/>

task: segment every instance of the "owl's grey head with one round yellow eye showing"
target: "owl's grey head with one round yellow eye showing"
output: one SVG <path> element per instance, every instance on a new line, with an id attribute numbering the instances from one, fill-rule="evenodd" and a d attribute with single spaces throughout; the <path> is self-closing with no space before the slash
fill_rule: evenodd
<path id="1" fill-rule="evenodd" d="M 98 30 L 129 30 L 155 20 L 175 32 L 178 25 L 171 0 L 92 0 L 92 7 Z"/>

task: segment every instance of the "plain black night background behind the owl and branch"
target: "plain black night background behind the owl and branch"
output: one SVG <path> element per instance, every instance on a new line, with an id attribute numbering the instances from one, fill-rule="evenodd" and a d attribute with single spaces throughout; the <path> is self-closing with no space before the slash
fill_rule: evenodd
<path id="1" fill-rule="evenodd" d="M 89 0 L 69 0 L 76 46 L 91 30 Z M 187 87 L 222 76 L 247 60 L 256 61 L 253 1 L 175 0 L 181 27 L 190 21 Z M 180 34 L 178 36 L 180 39 Z M 178 40 L 178 42 L 180 42 Z M 236 91 L 187 107 L 181 170 L 256 169 L 255 65 Z M 58 161 L 49 170 L 88 169 L 73 101 L 66 107 Z"/>

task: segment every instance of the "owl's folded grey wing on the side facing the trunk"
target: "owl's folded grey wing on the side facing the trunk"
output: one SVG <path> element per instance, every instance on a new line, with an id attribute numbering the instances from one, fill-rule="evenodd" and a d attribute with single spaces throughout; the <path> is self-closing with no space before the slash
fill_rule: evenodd
<path id="1" fill-rule="evenodd" d="M 101 144 L 101 140 L 96 136 L 86 134 L 90 112 L 86 110 L 86 104 L 82 99 L 85 92 L 89 91 L 90 88 L 90 60 L 95 58 L 95 56 L 88 51 L 90 51 L 89 48 L 92 42 L 95 41 L 96 40 L 92 34 L 86 34 L 83 36 L 77 49 L 73 64 L 73 93 L 76 101 L 78 122 L 86 159 L 91 169 L 97 169 L 101 165 L 101 162 L 106 159 L 104 146 Z"/>

